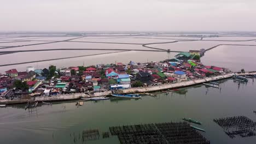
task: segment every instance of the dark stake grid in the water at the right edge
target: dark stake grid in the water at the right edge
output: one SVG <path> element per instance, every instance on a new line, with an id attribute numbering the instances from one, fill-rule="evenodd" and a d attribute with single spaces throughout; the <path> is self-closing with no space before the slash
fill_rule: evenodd
<path id="1" fill-rule="evenodd" d="M 245 116 L 213 119 L 225 133 L 233 139 L 236 135 L 248 137 L 256 135 L 256 123 Z"/>

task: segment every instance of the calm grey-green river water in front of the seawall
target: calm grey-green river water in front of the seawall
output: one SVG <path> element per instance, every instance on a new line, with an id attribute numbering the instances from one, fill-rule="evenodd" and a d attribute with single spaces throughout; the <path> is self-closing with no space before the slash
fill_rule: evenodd
<path id="1" fill-rule="evenodd" d="M 75 106 L 75 101 L 39 105 L 28 112 L 25 105 L 13 105 L 0 109 L 0 143 L 82 143 L 82 131 L 123 124 L 179 122 L 181 118 L 194 118 L 202 122 L 202 133 L 211 143 L 255 143 L 256 136 L 230 139 L 214 118 L 246 116 L 256 121 L 255 84 L 250 80 L 240 85 L 232 80 L 221 82 L 220 89 L 195 86 L 185 88 L 187 93 L 158 94 L 157 98 L 144 96 L 140 100 L 110 99 L 87 101 Z M 206 94 L 206 91 L 207 94 Z M 66 109 L 65 109 L 66 107 Z M 195 125 L 195 124 L 194 124 Z M 117 137 L 109 137 L 86 143 L 119 143 Z"/>

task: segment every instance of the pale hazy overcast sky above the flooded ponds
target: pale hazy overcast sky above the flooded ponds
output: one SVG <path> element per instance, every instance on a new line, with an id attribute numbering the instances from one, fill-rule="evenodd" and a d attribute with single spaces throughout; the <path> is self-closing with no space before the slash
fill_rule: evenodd
<path id="1" fill-rule="evenodd" d="M 256 0 L 0 0 L 0 31 L 256 31 Z"/>

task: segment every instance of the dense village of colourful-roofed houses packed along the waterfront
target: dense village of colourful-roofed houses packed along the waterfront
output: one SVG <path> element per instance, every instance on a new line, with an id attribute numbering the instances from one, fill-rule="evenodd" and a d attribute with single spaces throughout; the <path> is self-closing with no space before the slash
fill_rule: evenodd
<path id="1" fill-rule="evenodd" d="M 67 93 L 93 94 L 131 87 L 147 87 L 203 79 L 214 75 L 229 73 L 229 69 L 203 65 L 196 55 L 202 51 L 178 53 L 172 59 L 161 62 L 128 64 L 97 64 L 90 67 L 69 67 L 55 69 L 50 75 L 49 69 L 27 67 L 26 71 L 10 69 L 0 75 L 0 93 L 2 97 L 22 97 L 22 95 L 52 96 Z M 53 67 L 53 66 L 51 66 Z M 50 76 L 50 77 L 49 77 Z M 27 91 L 14 87 L 15 81 L 26 82 Z M 139 84 L 138 84 L 139 83 Z"/>

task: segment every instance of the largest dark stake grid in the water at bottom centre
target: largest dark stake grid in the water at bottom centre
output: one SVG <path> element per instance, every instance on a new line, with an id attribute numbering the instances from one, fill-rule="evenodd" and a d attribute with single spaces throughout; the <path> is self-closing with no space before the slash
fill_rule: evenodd
<path id="1" fill-rule="evenodd" d="M 120 143 L 210 143 L 187 122 L 124 125 L 109 130 Z"/>

